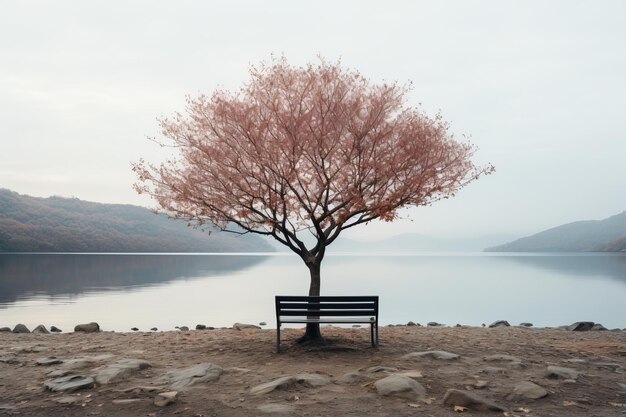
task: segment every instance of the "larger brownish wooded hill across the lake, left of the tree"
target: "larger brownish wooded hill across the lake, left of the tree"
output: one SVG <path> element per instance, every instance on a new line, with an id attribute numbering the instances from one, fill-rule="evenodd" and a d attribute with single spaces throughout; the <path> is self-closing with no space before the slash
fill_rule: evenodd
<path id="1" fill-rule="evenodd" d="M 254 235 L 213 230 L 138 206 L 38 198 L 0 188 L 0 252 L 265 252 Z"/>

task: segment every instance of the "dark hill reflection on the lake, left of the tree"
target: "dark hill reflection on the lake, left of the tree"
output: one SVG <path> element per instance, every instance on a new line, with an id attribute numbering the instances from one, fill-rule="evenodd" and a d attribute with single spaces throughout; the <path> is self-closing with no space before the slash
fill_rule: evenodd
<path id="1" fill-rule="evenodd" d="M 37 295 L 145 287 L 250 268 L 259 255 L 0 254 L 0 308 Z"/>

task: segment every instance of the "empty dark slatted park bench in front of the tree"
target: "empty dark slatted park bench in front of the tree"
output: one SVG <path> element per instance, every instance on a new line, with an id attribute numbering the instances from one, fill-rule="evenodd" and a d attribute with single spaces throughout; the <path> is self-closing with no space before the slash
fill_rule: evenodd
<path id="1" fill-rule="evenodd" d="M 369 324 L 378 347 L 378 296 L 276 296 L 276 352 L 283 323 Z"/>

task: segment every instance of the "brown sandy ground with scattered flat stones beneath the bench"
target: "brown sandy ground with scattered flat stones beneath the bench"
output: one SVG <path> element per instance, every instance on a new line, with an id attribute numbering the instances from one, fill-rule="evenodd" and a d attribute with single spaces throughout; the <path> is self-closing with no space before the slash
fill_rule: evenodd
<path id="1" fill-rule="evenodd" d="M 386 327 L 380 329 L 378 350 L 370 347 L 369 331 L 363 328 L 323 328 L 332 343 L 322 347 L 295 344 L 301 333 L 285 330 L 280 354 L 274 351 L 274 330 L 0 333 L 0 415 L 626 416 L 626 331 Z M 460 358 L 402 359 L 427 350 L 444 350 Z M 494 354 L 519 361 L 485 360 Z M 37 365 L 38 359 L 52 356 L 63 363 Z M 80 358 L 84 360 L 76 361 Z M 144 359 L 151 366 L 72 393 L 44 389 L 53 371 L 73 368 L 72 372 L 93 376 L 125 358 Z M 223 368 L 218 380 L 177 390 L 171 405 L 154 404 L 159 392 L 172 390 L 159 379 L 166 372 L 206 362 Z M 573 368 L 580 375 L 575 380 L 548 379 L 549 365 Z M 365 372 L 373 366 L 418 371 L 413 378 L 426 389 L 426 396 L 379 395 L 374 383 L 393 371 Z M 349 381 L 345 374 L 350 372 L 357 373 Z M 258 384 L 299 373 L 323 374 L 330 383 L 319 387 L 293 383 L 262 395 L 250 393 Z M 536 400 L 509 398 L 521 381 L 537 383 L 548 395 Z M 471 390 L 506 411 L 471 407 L 455 411 L 442 401 L 450 388 Z M 59 404 L 60 399 L 70 404 Z"/>

